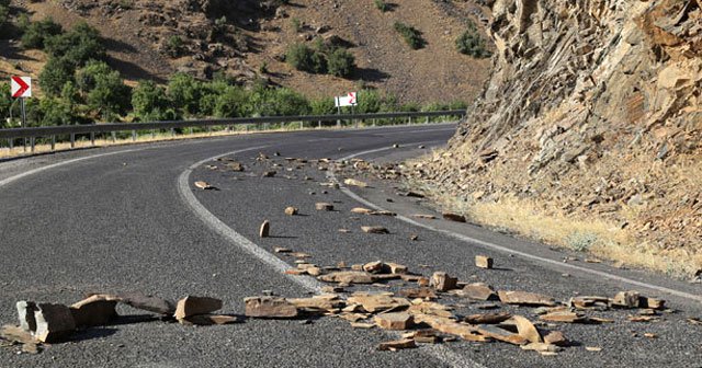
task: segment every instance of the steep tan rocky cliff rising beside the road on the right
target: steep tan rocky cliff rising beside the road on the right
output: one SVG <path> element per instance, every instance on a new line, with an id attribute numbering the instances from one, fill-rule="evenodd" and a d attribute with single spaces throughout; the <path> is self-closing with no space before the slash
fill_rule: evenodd
<path id="1" fill-rule="evenodd" d="M 702 0 L 486 3 L 489 87 L 448 152 L 410 175 L 480 222 L 702 266 Z"/>

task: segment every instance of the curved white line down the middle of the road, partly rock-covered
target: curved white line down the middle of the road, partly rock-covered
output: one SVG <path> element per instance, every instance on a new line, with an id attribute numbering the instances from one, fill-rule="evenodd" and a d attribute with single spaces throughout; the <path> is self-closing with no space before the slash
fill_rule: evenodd
<path id="1" fill-rule="evenodd" d="M 250 255 L 254 256 L 256 258 L 260 260 L 264 264 L 269 265 L 274 271 L 280 272 L 281 274 L 286 276 L 293 283 L 304 287 L 305 289 L 307 289 L 309 291 L 314 291 L 316 294 L 320 294 L 321 292 L 321 287 L 322 287 L 322 284 L 320 281 L 317 281 L 316 279 L 314 279 L 312 277 L 293 276 L 293 275 L 284 274 L 285 271 L 292 269 L 293 267 L 291 265 L 288 265 L 287 263 L 285 263 L 284 261 L 280 260 L 279 257 L 274 256 L 273 254 L 271 254 L 267 250 L 262 249 L 258 244 L 256 244 L 252 241 L 248 240 L 246 237 L 244 237 L 240 233 L 236 232 L 234 229 L 231 229 L 226 223 L 224 223 L 222 220 L 219 220 L 214 214 L 208 211 L 205 208 L 205 206 L 203 206 L 197 200 L 197 198 L 195 198 L 195 195 L 192 193 L 192 189 L 190 187 L 190 174 L 192 173 L 192 171 L 195 168 L 201 166 L 201 165 L 205 164 L 206 162 L 211 162 L 213 160 L 216 160 L 216 159 L 218 159 L 220 157 L 244 153 L 244 152 L 247 152 L 247 151 L 259 150 L 259 149 L 263 149 L 263 148 L 267 148 L 267 147 L 270 147 L 270 146 L 259 146 L 259 147 L 241 149 L 241 150 L 237 150 L 237 151 L 233 151 L 233 152 L 227 152 L 227 153 L 224 153 L 224 154 L 217 154 L 215 157 L 212 157 L 212 158 L 199 161 L 196 163 L 193 163 L 185 171 L 183 171 L 180 174 L 180 176 L 178 177 L 178 192 L 181 195 L 183 202 L 185 202 L 185 204 L 193 210 L 193 212 L 208 228 L 214 230 L 216 233 L 218 233 L 223 238 L 229 240 L 231 243 L 237 245 L 239 249 L 244 250 L 245 252 L 247 252 Z M 399 337 L 399 334 L 397 334 L 397 333 L 390 333 L 390 332 L 387 332 L 387 331 L 383 331 L 383 332 L 388 334 L 388 335 L 392 335 L 394 338 Z M 485 366 L 482 366 L 482 365 L 479 365 L 479 364 L 477 364 L 477 363 L 475 363 L 473 360 L 466 360 L 466 358 L 464 358 L 464 357 L 460 356 L 458 354 L 450 350 L 445 346 L 432 345 L 432 346 L 428 346 L 427 349 L 423 349 L 423 352 L 428 353 L 429 355 L 431 355 L 435 359 L 439 359 L 440 361 L 442 361 L 442 363 L 444 363 L 444 364 L 446 364 L 446 365 L 449 365 L 451 367 L 455 367 L 455 368 L 466 368 L 466 367 L 467 368 L 486 368 Z"/>

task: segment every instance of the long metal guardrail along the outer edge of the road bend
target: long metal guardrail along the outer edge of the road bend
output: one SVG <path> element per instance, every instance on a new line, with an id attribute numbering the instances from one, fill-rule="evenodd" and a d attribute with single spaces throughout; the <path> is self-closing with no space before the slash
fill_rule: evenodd
<path id="1" fill-rule="evenodd" d="M 37 137 L 50 137 L 52 150 L 56 143 L 56 136 L 70 136 L 71 148 L 75 147 L 76 135 L 90 134 L 91 142 L 94 145 L 95 134 L 117 131 L 132 131 L 133 140 L 136 140 L 136 131 L 138 130 L 165 130 L 194 127 L 213 127 L 213 126 L 233 126 L 233 125 L 260 125 L 275 123 L 304 123 L 317 122 L 321 126 L 321 122 L 339 122 L 342 120 L 376 120 L 376 119 L 397 119 L 408 118 L 411 123 L 412 118 L 427 118 L 437 116 L 456 116 L 462 117 L 466 114 L 465 110 L 450 110 L 437 112 L 400 112 L 400 113 L 378 113 L 378 114 L 339 114 L 339 115 L 301 115 L 301 116 L 264 116 L 264 117 L 238 117 L 238 118 L 212 118 L 212 119 L 193 119 L 193 120 L 172 120 L 172 122 L 147 122 L 147 123 L 109 123 L 109 124 L 87 124 L 87 125 L 64 125 L 47 127 L 26 127 L 0 129 L 0 139 L 12 141 L 18 138 L 30 138 L 32 151 L 34 150 L 34 139 Z"/>

